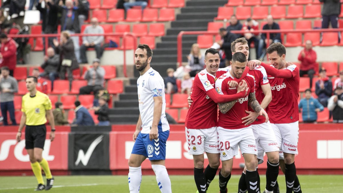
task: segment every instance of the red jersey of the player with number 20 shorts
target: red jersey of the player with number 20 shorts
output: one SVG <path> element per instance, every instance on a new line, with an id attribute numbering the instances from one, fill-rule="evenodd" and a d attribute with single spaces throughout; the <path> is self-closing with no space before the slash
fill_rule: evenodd
<path id="1" fill-rule="evenodd" d="M 230 72 L 225 73 L 223 76 L 216 80 L 216 91 L 219 94 L 235 94 L 237 93 L 237 88 L 230 88 L 227 86 L 227 82 L 233 80 L 234 78 L 230 75 Z M 253 76 L 247 74 L 243 79 L 248 84 L 248 93 L 255 92 L 255 82 Z M 237 100 L 235 105 L 225 114 L 219 112 L 218 126 L 225 129 L 240 129 L 248 127 L 249 125 L 244 125 L 242 118 L 248 114 L 245 112 L 248 110 L 248 95 L 244 98 Z"/>

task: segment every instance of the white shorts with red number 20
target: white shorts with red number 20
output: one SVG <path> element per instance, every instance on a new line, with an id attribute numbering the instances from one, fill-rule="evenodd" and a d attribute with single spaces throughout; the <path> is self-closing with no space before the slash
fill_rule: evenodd
<path id="1" fill-rule="evenodd" d="M 238 154 L 238 146 L 242 154 L 257 155 L 255 137 L 251 127 L 241 129 L 224 129 L 218 127 L 220 158 L 222 161 L 232 159 Z"/>

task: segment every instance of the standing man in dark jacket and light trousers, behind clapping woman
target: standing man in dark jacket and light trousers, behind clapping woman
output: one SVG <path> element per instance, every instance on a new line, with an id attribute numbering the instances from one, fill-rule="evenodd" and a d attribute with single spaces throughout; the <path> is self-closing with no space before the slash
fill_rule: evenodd
<path id="1" fill-rule="evenodd" d="M 66 0 L 65 6 L 60 6 L 59 8 L 61 11 L 61 30 L 66 30 L 69 34 L 80 33 L 79 15 L 84 10 L 81 0 L 75 0 L 75 6 L 72 0 Z M 71 39 L 74 43 L 76 59 L 80 63 L 79 36 L 73 36 Z"/>

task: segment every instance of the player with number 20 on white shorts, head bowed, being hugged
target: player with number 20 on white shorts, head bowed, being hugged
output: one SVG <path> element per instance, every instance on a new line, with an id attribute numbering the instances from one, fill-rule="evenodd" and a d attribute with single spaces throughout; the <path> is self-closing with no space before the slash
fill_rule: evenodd
<path id="1" fill-rule="evenodd" d="M 230 62 L 232 68 L 229 72 L 216 80 L 216 90 L 220 94 L 233 94 L 237 92 L 236 87 L 228 87 L 227 82 L 234 78 L 240 78 L 246 68 L 246 55 L 236 52 Z M 247 116 L 249 106 L 259 115 L 263 115 L 268 122 L 268 115 L 261 108 L 255 96 L 255 80 L 247 74 L 243 78 L 247 83 L 249 95 L 228 103 L 219 103 L 218 139 L 222 169 L 219 172 L 219 187 L 221 193 L 227 192 L 227 183 L 231 177 L 233 157 L 237 155 L 238 146 L 243 154 L 247 167 L 246 183 L 249 193 L 260 192 L 259 174 L 256 170 L 255 156 L 257 155 L 255 137 L 250 124 L 242 123 L 242 118 Z M 242 81 L 243 81 L 242 80 Z"/>

